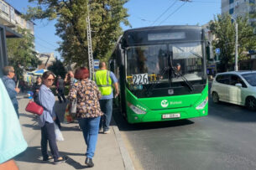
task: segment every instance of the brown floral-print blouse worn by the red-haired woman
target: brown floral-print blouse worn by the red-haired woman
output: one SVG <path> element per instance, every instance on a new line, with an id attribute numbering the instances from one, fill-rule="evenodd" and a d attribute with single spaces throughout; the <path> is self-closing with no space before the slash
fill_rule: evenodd
<path id="1" fill-rule="evenodd" d="M 102 95 L 96 83 L 92 80 L 77 81 L 71 87 L 68 98 L 70 100 L 77 100 L 77 118 L 92 118 L 103 115 L 99 103 Z"/>

